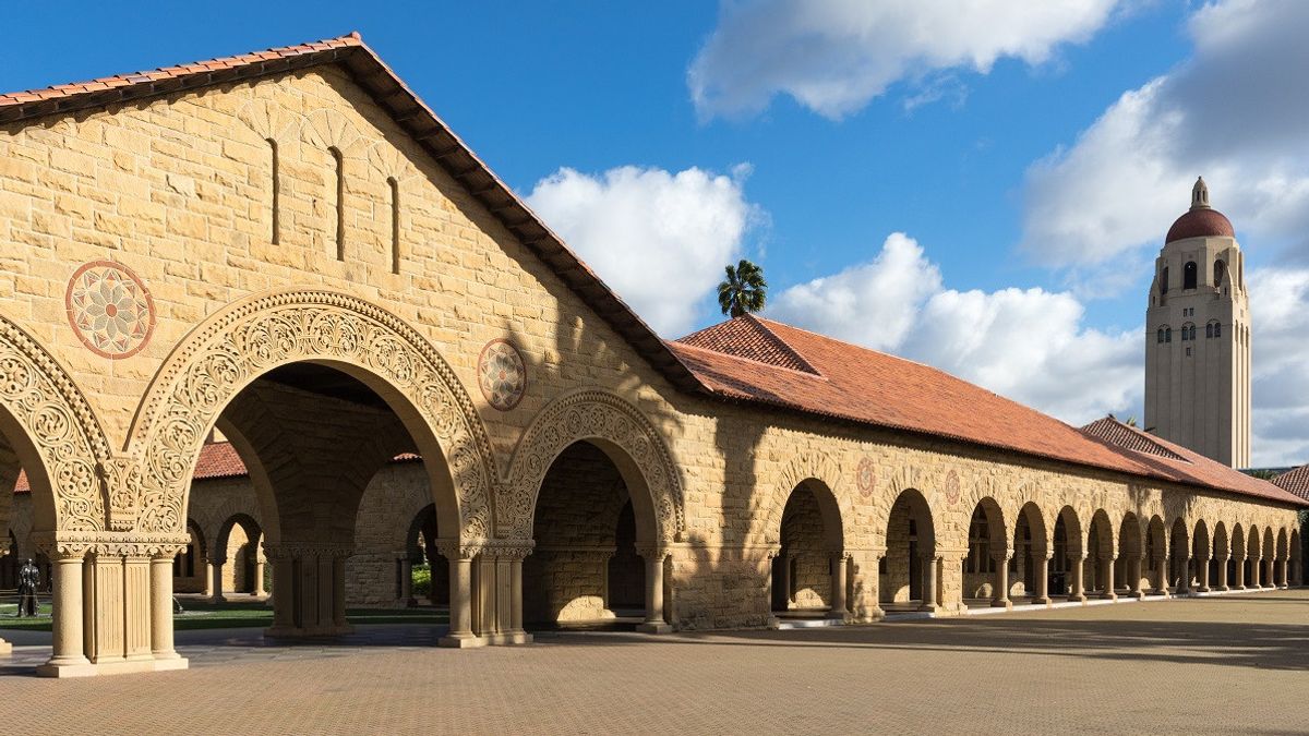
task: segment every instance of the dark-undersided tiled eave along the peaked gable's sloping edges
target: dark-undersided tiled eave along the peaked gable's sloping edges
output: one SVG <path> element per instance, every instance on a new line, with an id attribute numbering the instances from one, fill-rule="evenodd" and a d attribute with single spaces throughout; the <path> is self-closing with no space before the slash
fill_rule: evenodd
<path id="1" fill-rule="evenodd" d="M 0 94 L 0 126 L 141 101 L 186 89 L 339 64 L 445 172 L 511 234 L 543 261 L 654 371 L 682 390 L 707 388 L 607 284 L 586 266 L 463 140 L 418 97 L 357 33 L 194 64 Z"/>

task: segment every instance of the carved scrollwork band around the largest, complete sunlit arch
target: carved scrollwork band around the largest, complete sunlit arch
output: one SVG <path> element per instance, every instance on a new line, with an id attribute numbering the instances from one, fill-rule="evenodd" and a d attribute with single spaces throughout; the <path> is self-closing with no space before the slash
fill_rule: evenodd
<path id="1" fill-rule="evenodd" d="M 357 368 L 407 402 L 406 410 L 418 414 L 408 420 L 425 426 L 449 466 L 461 541 L 491 534 L 493 456 L 463 385 L 404 321 L 329 291 L 278 291 L 238 301 L 173 350 L 130 432 L 141 457 L 139 529 L 185 532 L 191 470 L 209 427 L 257 377 L 297 361 Z M 421 437 L 415 440 L 421 445 Z"/>

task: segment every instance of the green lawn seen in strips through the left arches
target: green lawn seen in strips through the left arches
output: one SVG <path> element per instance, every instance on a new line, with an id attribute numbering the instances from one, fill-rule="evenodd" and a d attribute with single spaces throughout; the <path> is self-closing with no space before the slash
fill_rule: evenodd
<path id="1" fill-rule="evenodd" d="M 186 609 L 173 617 L 173 627 L 178 631 L 196 629 L 237 629 L 267 627 L 272 625 L 272 608 L 262 602 L 207 604 L 183 601 Z M 0 604 L 0 630 L 22 629 L 26 631 L 50 631 L 50 604 L 39 606 L 37 618 L 18 618 L 17 604 Z M 428 623 L 446 625 L 449 616 L 444 610 L 429 608 L 347 609 L 346 618 L 353 625 L 361 623 Z"/>

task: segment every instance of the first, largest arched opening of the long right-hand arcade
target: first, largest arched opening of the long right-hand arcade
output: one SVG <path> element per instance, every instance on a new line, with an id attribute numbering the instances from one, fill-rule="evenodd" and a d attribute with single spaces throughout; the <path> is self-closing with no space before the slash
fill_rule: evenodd
<path id="1" fill-rule="evenodd" d="M 850 562 L 840 507 L 831 488 L 808 478 L 792 488 L 772 561 L 772 612 L 785 617 L 848 617 Z"/>

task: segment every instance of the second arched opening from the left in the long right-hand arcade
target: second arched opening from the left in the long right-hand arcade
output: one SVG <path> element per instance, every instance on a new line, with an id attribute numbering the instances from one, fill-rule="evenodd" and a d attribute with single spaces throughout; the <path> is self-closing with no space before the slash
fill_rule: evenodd
<path id="1" fill-rule="evenodd" d="M 941 605 L 941 558 L 927 499 L 906 488 L 886 521 L 886 557 L 878 571 L 882 609 L 935 612 Z"/>

